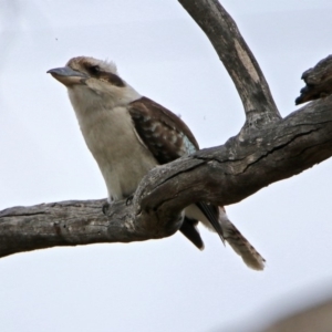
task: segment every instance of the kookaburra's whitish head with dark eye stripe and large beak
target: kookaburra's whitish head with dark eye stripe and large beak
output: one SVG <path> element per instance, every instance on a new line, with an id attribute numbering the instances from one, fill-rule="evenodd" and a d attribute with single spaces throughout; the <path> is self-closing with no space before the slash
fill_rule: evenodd
<path id="1" fill-rule="evenodd" d="M 68 87 L 79 117 L 96 108 L 124 106 L 141 97 L 120 77 L 116 65 L 110 61 L 77 56 L 64 68 L 52 69 L 48 73 Z"/>

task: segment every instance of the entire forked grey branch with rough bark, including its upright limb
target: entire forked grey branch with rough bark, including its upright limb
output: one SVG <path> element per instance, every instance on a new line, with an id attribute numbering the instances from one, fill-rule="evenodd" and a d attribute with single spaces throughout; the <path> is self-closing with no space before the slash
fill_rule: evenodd
<path id="1" fill-rule="evenodd" d="M 183 208 L 194 201 L 238 203 L 332 155 L 332 96 L 281 120 L 257 61 L 219 2 L 179 2 L 208 35 L 238 89 L 247 116 L 240 133 L 225 145 L 153 169 L 132 203 L 113 204 L 107 216 L 102 212 L 104 200 L 1 211 L 0 257 L 54 246 L 167 237 L 180 227 Z"/>

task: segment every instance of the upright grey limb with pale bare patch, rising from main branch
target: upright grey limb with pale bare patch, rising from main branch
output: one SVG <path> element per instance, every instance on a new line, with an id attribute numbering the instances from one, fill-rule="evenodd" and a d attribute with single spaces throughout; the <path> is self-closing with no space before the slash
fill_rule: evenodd
<path id="1" fill-rule="evenodd" d="M 178 0 L 206 33 L 232 79 L 246 111 L 245 129 L 281 116 L 269 85 L 235 21 L 218 0 Z"/>

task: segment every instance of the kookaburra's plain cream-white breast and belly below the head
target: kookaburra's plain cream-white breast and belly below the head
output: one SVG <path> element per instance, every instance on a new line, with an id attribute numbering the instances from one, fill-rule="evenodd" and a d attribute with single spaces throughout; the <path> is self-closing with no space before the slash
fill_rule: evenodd
<path id="1" fill-rule="evenodd" d="M 134 194 L 157 162 L 138 138 L 127 107 L 107 107 L 97 101 L 82 107 L 75 97 L 71 101 L 85 143 L 105 179 L 110 198 L 117 200 Z"/>

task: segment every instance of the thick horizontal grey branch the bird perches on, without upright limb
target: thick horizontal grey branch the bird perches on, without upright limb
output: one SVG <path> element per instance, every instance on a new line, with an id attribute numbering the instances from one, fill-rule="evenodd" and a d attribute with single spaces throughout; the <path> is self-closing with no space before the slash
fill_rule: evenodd
<path id="1" fill-rule="evenodd" d="M 163 238 L 180 226 L 180 210 L 198 200 L 238 203 L 332 155 L 332 96 L 312 102 L 255 135 L 154 168 L 133 203 L 68 201 L 0 212 L 0 257 L 97 242 Z"/>

